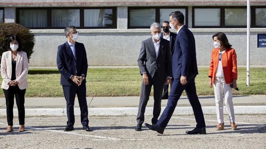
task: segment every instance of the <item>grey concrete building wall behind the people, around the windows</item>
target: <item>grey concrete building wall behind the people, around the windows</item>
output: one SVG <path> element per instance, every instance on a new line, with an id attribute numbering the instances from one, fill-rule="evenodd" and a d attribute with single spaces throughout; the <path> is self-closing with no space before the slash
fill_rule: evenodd
<path id="1" fill-rule="evenodd" d="M 117 29 L 78 29 L 78 42 L 84 43 L 90 66 L 137 65 L 141 41 L 150 38 L 149 29 L 127 29 L 128 6 L 188 6 L 188 27 L 192 28 L 192 6 L 246 6 L 243 0 L 1 0 L 5 22 L 15 22 L 16 7 L 117 7 Z M 251 6 L 266 6 L 265 0 L 251 0 Z M 66 42 L 63 29 L 32 29 L 35 35 L 30 66 L 56 66 L 57 47 Z M 246 64 L 246 29 L 191 29 L 196 39 L 197 62 L 209 65 L 213 48 L 212 35 L 224 32 L 238 55 L 238 65 Z M 173 32 L 176 32 L 173 30 Z M 266 28 L 251 29 L 251 65 L 266 65 L 266 48 L 257 48 L 257 33 Z"/>

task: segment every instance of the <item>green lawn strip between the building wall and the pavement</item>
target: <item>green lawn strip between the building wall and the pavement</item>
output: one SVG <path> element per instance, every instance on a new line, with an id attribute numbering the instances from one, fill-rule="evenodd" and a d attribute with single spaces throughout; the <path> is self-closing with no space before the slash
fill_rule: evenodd
<path id="1" fill-rule="evenodd" d="M 240 91 L 234 90 L 235 95 L 266 94 L 266 68 L 251 68 L 250 72 L 250 86 L 246 86 L 246 68 L 238 68 L 237 85 Z M 198 95 L 213 95 L 207 75 L 208 68 L 199 68 L 199 75 L 196 77 Z M 27 79 L 29 88 L 26 97 L 63 96 L 57 69 L 30 69 Z M 0 81 L 2 82 L 2 78 Z M 137 68 L 88 69 L 87 96 L 139 96 L 140 89 L 141 76 Z M 0 97 L 4 97 L 2 89 Z"/>

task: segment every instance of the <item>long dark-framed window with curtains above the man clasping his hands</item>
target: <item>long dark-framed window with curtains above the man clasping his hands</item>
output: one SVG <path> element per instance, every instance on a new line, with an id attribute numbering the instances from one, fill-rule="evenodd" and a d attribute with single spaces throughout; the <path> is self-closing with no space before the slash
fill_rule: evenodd
<path id="1" fill-rule="evenodd" d="M 115 7 L 101 8 L 17 8 L 16 23 L 31 29 L 117 28 Z"/>

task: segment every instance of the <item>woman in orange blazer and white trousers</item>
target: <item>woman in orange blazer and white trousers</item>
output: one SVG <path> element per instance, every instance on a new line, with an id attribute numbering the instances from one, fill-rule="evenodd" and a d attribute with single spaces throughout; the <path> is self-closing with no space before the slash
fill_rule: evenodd
<path id="1" fill-rule="evenodd" d="M 233 107 L 233 88 L 237 88 L 237 61 L 235 49 L 231 48 L 226 35 L 222 32 L 212 36 L 212 49 L 209 67 L 209 86 L 214 88 L 218 126 L 217 130 L 224 129 L 223 98 L 228 111 L 232 130 L 235 130 L 235 113 Z M 230 87 L 233 85 L 233 88 Z"/>

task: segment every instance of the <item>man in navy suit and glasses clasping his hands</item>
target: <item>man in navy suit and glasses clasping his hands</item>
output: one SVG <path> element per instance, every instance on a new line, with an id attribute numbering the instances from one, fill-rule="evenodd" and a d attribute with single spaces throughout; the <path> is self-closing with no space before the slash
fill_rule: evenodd
<path id="1" fill-rule="evenodd" d="M 75 26 L 65 28 L 67 41 L 58 46 L 57 67 L 61 73 L 60 84 L 66 99 L 67 126 L 64 131 L 74 130 L 74 101 L 77 95 L 80 107 L 81 124 L 83 130 L 90 131 L 88 120 L 88 107 L 86 101 L 86 75 L 88 61 L 85 47 L 76 42 L 79 32 Z"/>

